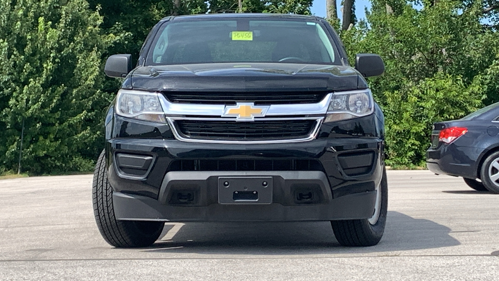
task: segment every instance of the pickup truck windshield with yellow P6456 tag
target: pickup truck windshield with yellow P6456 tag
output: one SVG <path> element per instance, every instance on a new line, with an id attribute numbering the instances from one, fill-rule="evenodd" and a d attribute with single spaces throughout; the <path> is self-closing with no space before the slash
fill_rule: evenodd
<path id="1" fill-rule="evenodd" d="M 147 65 L 213 62 L 340 64 L 319 22 L 293 19 L 216 19 L 166 22 Z"/>

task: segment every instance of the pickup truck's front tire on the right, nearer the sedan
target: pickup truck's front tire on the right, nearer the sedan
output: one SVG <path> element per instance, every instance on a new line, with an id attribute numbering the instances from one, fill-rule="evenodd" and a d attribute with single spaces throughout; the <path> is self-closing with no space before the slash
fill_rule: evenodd
<path id="1" fill-rule="evenodd" d="M 343 246 L 373 246 L 376 245 L 383 236 L 386 224 L 386 213 L 388 208 L 388 182 L 386 180 L 386 170 L 383 167 L 383 177 L 381 178 L 381 190 L 379 197 L 379 216 L 377 219 L 349 219 L 331 220 L 334 236 Z M 376 214 L 376 210 L 375 210 Z M 371 221 L 370 221 L 371 220 Z M 373 221 L 374 220 L 374 221 Z"/>

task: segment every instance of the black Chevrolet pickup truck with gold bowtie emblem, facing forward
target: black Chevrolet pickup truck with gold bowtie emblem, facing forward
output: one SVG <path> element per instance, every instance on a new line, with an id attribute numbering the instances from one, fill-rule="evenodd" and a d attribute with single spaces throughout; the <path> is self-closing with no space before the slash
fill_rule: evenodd
<path id="1" fill-rule="evenodd" d="M 93 206 L 116 247 L 154 243 L 165 221 L 326 220 L 342 245 L 381 239 L 384 117 L 322 18 L 202 14 L 160 20 L 105 120 Z"/>

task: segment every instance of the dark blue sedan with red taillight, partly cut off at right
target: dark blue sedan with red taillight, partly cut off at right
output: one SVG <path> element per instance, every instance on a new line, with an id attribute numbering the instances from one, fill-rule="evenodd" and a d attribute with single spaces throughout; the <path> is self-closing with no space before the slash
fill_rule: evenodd
<path id="1" fill-rule="evenodd" d="M 459 120 L 433 125 L 426 165 L 436 174 L 462 176 L 476 190 L 499 194 L 499 102 Z"/>

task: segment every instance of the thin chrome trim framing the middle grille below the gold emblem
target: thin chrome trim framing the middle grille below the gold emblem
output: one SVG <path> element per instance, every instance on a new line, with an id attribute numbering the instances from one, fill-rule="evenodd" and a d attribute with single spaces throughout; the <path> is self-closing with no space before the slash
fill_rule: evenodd
<path id="1" fill-rule="evenodd" d="M 233 119 L 230 118 L 176 118 L 176 117 L 168 117 L 167 121 L 168 124 L 170 125 L 173 134 L 175 135 L 175 138 L 181 141 L 185 142 L 198 142 L 198 143 L 239 143 L 239 144 L 256 144 L 256 143 L 284 143 L 284 142 L 301 142 L 301 141 L 309 141 L 314 139 L 317 134 L 319 133 L 320 126 L 322 124 L 322 121 L 324 120 L 324 117 L 308 117 L 308 118 L 261 118 L 261 119 L 255 119 L 255 122 L 258 122 L 258 120 L 302 120 L 302 119 L 315 119 L 315 127 L 311 130 L 310 134 L 307 137 L 303 138 L 295 138 L 295 139 L 272 139 L 272 140 L 216 140 L 216 139 L 200 139 L 200 138 L 189 138 L 183 136 L 181 133 L 178 132 L 177 126 L 175 125 L 175 120 L 223 120 L 223 121 L 230 121 Z"/>

